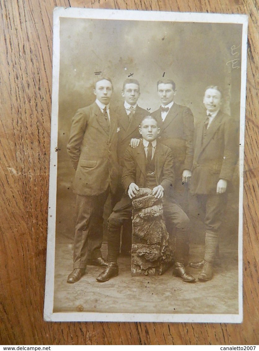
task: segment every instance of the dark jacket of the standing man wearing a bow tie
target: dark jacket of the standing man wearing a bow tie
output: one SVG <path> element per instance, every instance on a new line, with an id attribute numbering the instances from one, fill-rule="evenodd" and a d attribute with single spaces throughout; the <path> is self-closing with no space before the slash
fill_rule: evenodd
<path id="1" fill-rule="evenodd" d="M 159 141 L 170 147 L 174 157 L 175 180 L 181 181 L 183 170 L 191 170 L 193 163 L 193 114 L 190 108 L 173 104 L 162 122 L 160 109 L 152 116 L 161 122 Z"/>

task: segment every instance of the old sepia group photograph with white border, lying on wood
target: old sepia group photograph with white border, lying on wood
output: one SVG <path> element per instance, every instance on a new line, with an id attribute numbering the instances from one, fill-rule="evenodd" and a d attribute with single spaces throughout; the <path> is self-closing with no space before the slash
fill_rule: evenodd
<path id="1" fill-rule="evenodd" d="M 53 19 L 44 319 L 241 323 L 247 16 Z"/>

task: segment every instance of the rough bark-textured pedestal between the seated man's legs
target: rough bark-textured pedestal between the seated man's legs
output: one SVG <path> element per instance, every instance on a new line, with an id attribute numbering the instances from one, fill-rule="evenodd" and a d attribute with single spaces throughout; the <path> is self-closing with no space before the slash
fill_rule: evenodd
<path id="1" fill-rule="evenodd" d="M 162 200 L 140 188 L 132 201 L 132 276 L 163 274 L 174 262 L 174 241 L 168 240 Z"/>

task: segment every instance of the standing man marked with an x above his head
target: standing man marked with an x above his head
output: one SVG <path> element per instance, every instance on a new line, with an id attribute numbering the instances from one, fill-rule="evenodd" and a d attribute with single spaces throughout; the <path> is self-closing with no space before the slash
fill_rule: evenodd
<path id="1" fill-rule="evenodd" d="M 126 79 L 123 83 L 121 95 L 124 98 L 124 104 L 116 109 L 116 113 L 119 116 L 118 123 L 120 128 L 117 148 L 120 175 L 122 175 L 124 152 L 132 139 L 139 138 L 140 122 L 148 114 L 144 108 L 139 107 L 137 104 L 140 96 L 139 81 L 137 79 Z M 113 199 L 114 206 L 121 199 L 123 193 L 121 185 L 117 196 Z M 129 255 L 131 253 L 131 239 L 132 221 L 129 219 L 123 225 L 120 248 L 122 254 Z"/>

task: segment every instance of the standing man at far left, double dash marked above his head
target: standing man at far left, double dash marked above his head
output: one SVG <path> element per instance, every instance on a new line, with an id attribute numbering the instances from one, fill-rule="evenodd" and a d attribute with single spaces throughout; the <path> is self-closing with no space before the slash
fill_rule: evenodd
<path id="1" fill-rule="evenodd" d="M 95 83 L 95 102 L 80 108 L 73 117 L 67 151 L 76 170 L 77 220 L 74 237 L 73 271 L 68 283 L 77 282 L 86 266 L 106 267 L 102 258 L 102 222 L 109 191 L 118 181 L 117 119 L 110 113 L 112 81 L 100 77 Z"/>

